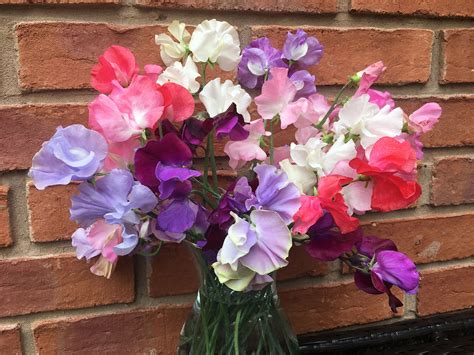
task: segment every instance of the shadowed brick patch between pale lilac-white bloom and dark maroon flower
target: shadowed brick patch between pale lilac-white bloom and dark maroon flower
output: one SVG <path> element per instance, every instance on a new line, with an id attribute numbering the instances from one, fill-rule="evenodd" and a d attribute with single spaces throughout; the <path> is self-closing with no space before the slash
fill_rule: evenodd
<path id="1" fill-rule="evenodd" d="M 296 279 L 303 276 L 322 276 L 328 272 L 328 264 L 312 258 L 303 246 L 293 246 L 288 266 L 277 271 L 278 280 Z"/>

